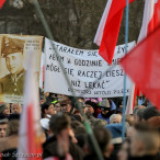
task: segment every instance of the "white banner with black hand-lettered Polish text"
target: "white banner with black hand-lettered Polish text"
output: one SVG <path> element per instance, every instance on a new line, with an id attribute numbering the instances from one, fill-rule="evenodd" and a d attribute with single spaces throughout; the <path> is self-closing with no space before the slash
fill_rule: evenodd
<path id="1" fill-rule="evenodd" d="M 45 39 L 45 92 L 72 95 L 75 91 L 77 96 L 83 98 L 123 96 L 124 71 L 118 61 L 125 55 L 125 45 L 115 48 L 112 66 L 108 66 L 99 56 L 99 50 L 78 49 L 56 42 L 53 44 L 59 53 L 58 57 L 52 42 Z M 130 50 L 134 46 L 135 42 L 132 42 L 127 49 Z M 64 64 L 73 91 L 67 84 L 59 60 Z M 129 94 L 129 89 L 130 80 L 127 78 L 126 95 Z"/>

